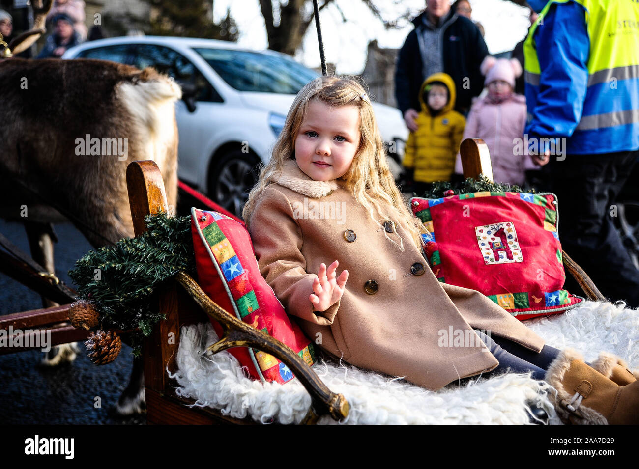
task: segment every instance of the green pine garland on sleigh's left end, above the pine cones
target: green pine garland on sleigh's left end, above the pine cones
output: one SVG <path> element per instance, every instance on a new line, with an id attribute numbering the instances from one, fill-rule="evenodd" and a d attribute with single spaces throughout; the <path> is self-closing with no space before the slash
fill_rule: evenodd
<path id="1" fill-rule="evenodd" d="M 145 336 L 164 315 L 150 308 L 151 296 L 174 274 L 196 271 L 190 216 L 147 216 L 148 230 L 114 246 L 89 251 L 69 276 L 79 297 L 95 304 L 105 328 L 137 329 Z M 137 350 L 137 347 L 135 348 Z"/>

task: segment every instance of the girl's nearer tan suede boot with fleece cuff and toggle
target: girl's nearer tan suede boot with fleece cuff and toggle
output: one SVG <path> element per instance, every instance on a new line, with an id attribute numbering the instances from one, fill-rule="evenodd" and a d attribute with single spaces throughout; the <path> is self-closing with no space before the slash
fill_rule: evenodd
<path id="1" fill-rule="evenodd" d="M 576 350 L 557 356 L 546 382 L 557 390 L 555 409 L 564 423 L 639 424 L 639 381 L 620 386 L 585 364 Z"/>

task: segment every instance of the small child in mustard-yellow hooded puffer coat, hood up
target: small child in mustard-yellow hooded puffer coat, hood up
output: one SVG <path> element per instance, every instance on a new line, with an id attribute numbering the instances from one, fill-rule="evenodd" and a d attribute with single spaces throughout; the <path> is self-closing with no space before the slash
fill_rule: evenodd
<path id="1" fill-rule="evenodd" d="M 422 110 L 415 119 L 419 127 L 408 135 L 402 164 L 407 179 L 415 181 L 413 191 L 422 195 L 431 182 L 450 181 L 466 119 L 453 110 L 455 84 L 447 73 L 426 78 L 419 102 Z"/>

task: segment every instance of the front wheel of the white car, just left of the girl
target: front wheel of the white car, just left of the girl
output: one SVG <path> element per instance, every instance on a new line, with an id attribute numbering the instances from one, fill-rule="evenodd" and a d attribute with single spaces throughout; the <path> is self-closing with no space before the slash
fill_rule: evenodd
<path id="1" fill-rule="evenodd" d="M 229 212 L 242 216 L 249 192 L 258 182 L 261 160 L 252 153 L 233 150 L 224 154 L 210 175 L 208 195 Z"/>

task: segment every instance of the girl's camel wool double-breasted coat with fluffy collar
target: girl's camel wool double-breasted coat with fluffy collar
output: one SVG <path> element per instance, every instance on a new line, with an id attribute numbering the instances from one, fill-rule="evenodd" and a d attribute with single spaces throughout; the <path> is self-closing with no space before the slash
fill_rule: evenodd
<path id="1" fill-rule="evenodd" d="M 488 297 L 437 281 L 404 225 L 387 232 L 341 184 L 313 181 L 287 160 L 249 223 L 261 274 L 312 341 L 433 391 L 498 365 L 472 328 L 541 350 L 543 339 Z M 399 242 L 397 232 L 403 252 L 389 239 Z M 344 294 L 313 311 L 312 281 L 334 260 L 337 275 L 348 269 Z"/>

